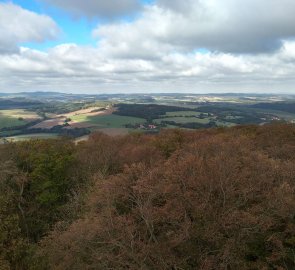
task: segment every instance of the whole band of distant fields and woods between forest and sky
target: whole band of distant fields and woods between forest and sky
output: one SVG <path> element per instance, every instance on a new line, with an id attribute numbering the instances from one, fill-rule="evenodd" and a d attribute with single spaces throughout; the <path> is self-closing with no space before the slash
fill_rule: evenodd
<path id="1" fill-rule="evenodd" d="M 0 137 L 8 140 L 295 122 L 295 96 L 35 93 L 0 98 L 0 105 Z"/>

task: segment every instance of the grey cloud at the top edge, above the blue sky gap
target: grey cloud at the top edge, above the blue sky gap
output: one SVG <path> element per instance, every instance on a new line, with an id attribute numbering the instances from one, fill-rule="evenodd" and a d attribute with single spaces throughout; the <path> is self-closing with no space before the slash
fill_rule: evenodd
<path id="1" fill-rule="evenodd" d="M 115 18 L 140 8 L 139 0 L 40 0 L 61 8 L 73 16 Z"/>

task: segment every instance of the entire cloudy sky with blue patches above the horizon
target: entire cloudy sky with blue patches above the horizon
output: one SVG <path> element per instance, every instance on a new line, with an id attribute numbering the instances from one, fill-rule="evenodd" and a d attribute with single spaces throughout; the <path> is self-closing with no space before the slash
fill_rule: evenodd
<path id="1" fill-rule="evenodd" d="M 0 92 L 293 93 L 294 0 L 0 0 Z"/>

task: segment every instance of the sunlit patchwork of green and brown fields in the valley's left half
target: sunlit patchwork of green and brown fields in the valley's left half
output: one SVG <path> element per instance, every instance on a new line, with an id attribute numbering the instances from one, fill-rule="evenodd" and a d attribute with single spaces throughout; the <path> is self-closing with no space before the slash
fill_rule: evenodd
<path id="1" fill-rule="evenodd" d="M 125 135 L 132 130 L 127 127 L 128 125 L 140 125 L 146 121 L 138 117 L 114 115 L 113 111 L 114 109 L 109 106 L 89 107 L 65 114 L 46 114 L 46 118 L 42 119 L 36 112 L 29 110 L 0 110 L 0 138 L 2 137 L 0 143 L 31 138 L 57 138 L 61 130 L 76 132 L 83 129 L 90 132 L 101 131 L 111 136 Z M 36 120 L 39 122 L 36 123 Z M 32 125 L 29 125 L 30 123 Z M 60 135 L 67 134 L 64 132 Z M 87 135 L 81 136 L 87 137 Z"/>

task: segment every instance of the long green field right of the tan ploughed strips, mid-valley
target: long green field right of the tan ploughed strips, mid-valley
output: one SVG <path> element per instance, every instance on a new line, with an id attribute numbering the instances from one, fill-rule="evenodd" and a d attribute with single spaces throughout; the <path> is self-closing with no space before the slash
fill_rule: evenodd
<path id="1" fill-rule="evenodd" d="M 142 124 L 145 123 L 145 119 L 120 116 L 120 115 L 97 115 L 97 116 L 87 116 L 87 115 L 77 115 L 71 117 L 73 121 L 80 123 L 89 123 L 98 128 L 122 128 L 127 124 Z"/>

